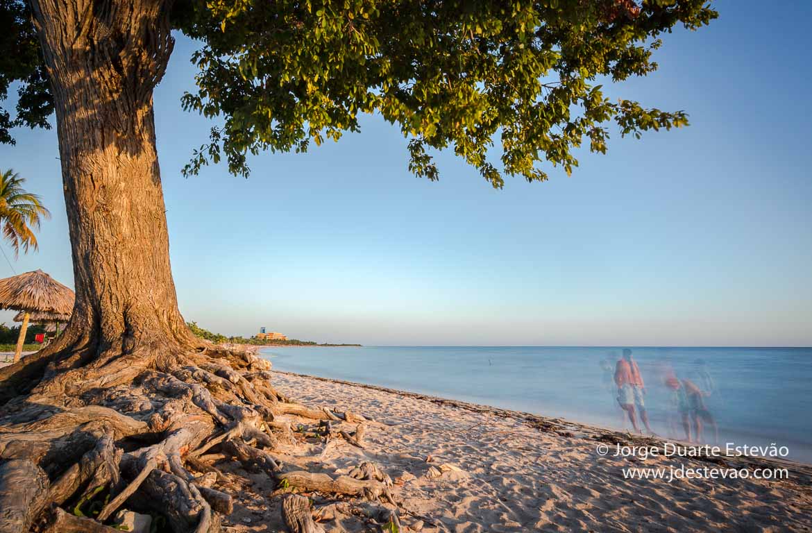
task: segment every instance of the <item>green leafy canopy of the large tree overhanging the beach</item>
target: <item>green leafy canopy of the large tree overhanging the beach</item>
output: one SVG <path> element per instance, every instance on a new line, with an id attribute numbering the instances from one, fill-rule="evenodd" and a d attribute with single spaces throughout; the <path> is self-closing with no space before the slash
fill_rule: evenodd
<path id="1" fill-rule="evenodd" d="M 706 0 L 178 0 L 173 28 L 200 43 L 182 105 L 220 119 L 184 174 L 224 158 L 248 176 L 248 154 L 337 140 L 361 113 L 396 124 L 430 180 L 443 149 L 495 187 L 570 173 L 582 143 L 606 152 L 612 121 L 635 137 L 688 124 L 598 82 L 653 72 L 664 32 L 716 16 Z M 15 117 L 0 109 L 13 142 L 15 126 L 48 127 L 53 98 L 26 3 L 0 0 L 0 31 L 0 97 L 19 82 Z"/>

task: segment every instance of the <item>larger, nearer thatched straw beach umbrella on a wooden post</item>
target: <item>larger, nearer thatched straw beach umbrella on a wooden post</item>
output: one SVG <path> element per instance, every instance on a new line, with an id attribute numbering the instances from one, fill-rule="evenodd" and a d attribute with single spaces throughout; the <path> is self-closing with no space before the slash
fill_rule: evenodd
<path id="1" fill-rule="evenodd" d="M 14 362 L 23 351 L 25 332 L 32 313 L 70 315 L 76 295 L 65 285 L 43 271 L 25 272 L 0 280 L 0 309 L 23 311 L 23 325 L 19 328 Z"/>

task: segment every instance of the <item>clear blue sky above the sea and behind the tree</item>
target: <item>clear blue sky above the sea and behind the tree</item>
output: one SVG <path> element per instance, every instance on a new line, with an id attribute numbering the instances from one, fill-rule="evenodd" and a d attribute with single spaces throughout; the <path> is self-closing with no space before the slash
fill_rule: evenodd
<path id="1" fill-rule="evenodd" d="M 248 180 L 184 179 L 209 123 L 180 109 L 194 44 L 179 36 L 155 107 L 184 317 L 365 345 L 812 345 L 812 3 L 714 3 L 710 28 L 665 37 L 659 72 L 612 89 L 685 109 L 689 128 L 615 135 L 571 178 L 502 191 L 452 154 L 438 183 L 411 176 L 375 117 L 252 158 Z M 16 136 L 0 167 L 54 218 L 14 268 L 72 284 L 56 134 Z"/>

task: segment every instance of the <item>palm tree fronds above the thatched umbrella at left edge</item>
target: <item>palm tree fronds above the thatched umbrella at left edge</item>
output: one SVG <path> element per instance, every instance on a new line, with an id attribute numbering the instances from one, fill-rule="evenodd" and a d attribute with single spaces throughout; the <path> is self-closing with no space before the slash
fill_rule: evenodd
<path id="1" fill-rule="evenodd" d="M 15 257 L 19 257 L 20 247 L 24 254 L 31 246 L 39 248 L 33 230 L 40 228 L 41 219 L 50 219 L 50 211 L 42 205 L 41 198 L 23 189 L 24 183 L 25 178 L 15 171 L 7 170 L 0 175 L 0 226 Z"/>

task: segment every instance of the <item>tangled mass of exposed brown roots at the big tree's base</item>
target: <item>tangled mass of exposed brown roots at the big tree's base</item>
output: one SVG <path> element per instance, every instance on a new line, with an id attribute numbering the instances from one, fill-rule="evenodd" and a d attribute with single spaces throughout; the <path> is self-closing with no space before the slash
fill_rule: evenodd
<path id="1" fill-rule="evenodd" d="M 208 345 L 167 355 L 153 346 L 92 356 L 73 341 L 0 371 L 0 533 L 115 531 L 110 520 L 122 508 L 160 514 L 175 533 L 216 533 L 234 507 L 216 488 L 225 479 L 212 463 L 223 460 L 292 490 L 395 504 L 391 479 L 372 463 L 334 478 L 272 455 L 280 440 L 296 441 L 289 415 L 319 421 L 317 439 L 340 435 L 361 448 L 367 424 L 380 424 L 291 401 L 255 353 Z M 355 431 L 333 430 L 343 423 Z M 341 509 L 400 524 L 386 507 L 348 505 Z M 323 531 L 306 498 L 288 495 L 283 512 L 292 531 Z"/>

